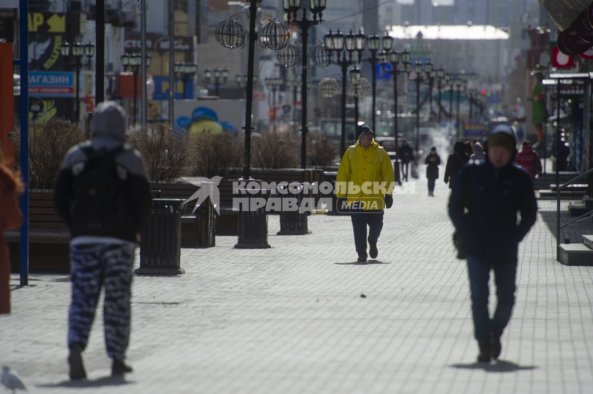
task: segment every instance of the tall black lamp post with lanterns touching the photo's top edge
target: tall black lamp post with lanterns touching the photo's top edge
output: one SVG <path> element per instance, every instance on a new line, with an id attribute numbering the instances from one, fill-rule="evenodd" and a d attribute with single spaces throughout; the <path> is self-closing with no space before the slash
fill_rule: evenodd
<path id="1" fill-rule="evenodd" d="M 307 168 L 307 44 L 309 40 L 309 29 L 314 25 L 323 22 L 323 11 L 326 9 L 326 0 L 309 0 L 309 11 L 313 14 L 313 20 L 307 19 L 307 8 L 302 9 L 302 19 L 298 20 L 298 11 L 301 9 L 301 0 L 282 0 L 286 20 L 301 30 L 302 40 L 302 140 L 301 140 L 301 168 Z M 319 17 L 319 18 L 317 18 Z"/>

